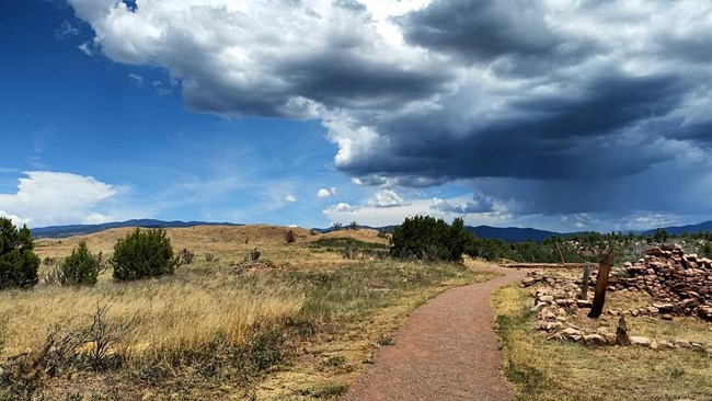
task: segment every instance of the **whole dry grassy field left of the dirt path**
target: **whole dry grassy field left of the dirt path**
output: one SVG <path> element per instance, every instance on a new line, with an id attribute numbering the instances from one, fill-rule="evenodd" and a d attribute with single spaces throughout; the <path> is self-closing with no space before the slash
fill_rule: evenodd
<path id="1" fill-rule="evenodd" d="M 378 346 L 390 343 L 410 311 L 449 287 L 490 277 L 463 265 L 345 260 L 335 252 L 344 243 L 338 233 L 295 229 L 296 243 L 286 243 L 288 230 L 267 226 L 169 230 L 176 250 L 187 248 L 198 255 L 175 275 L 116 283 L 108 270 L 94 287 L 41 283 L 32 290 L 0 293 L 4 358 L 0 398 L 335 397 L 348 389 Z M 92 251 L 110 253 L 124 231 L 83 240 Z M 358 241 L 360 248 L 374 243 L 382 249 L 387 242 L 370 230 L 341 236 Z M 61 259 L 79 240 L 41 240 L 37 253 Z M 262 253 L 260 261 L 268 260 L 274 267 L 240 268 L 254 248 Z M 202 256 L 208 252 L 215 255 L 213 262 Z M 110 328 L 125 329 L 101 368 L 83 356 L 95 351 L 94 343 L 66 355 L 56 351 L 64 346 L 59 340 L 69 342 L 88 332 L 97 308 L 106 311 Z M 47 348 L 49 331 L 55 343 Z M 51 351 L 42 354 L 43 350 Z M 18 360 L 34 370 L 18 370 Z M 20 374 L 9 375 L 13 369 Z"/>

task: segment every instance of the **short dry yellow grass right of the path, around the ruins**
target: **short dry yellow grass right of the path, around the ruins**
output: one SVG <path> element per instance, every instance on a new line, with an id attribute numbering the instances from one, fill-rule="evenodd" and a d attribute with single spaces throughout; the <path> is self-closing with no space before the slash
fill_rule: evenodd
<path id="1" fill-rule="evenodd" d="M 611 305 L 644 301 L 624 293 L 608 297 Z M 517 400 L 712 400 L 710 354 L 548 341 L 546 334 L 533 330 L 527 289 L 503 288 L 493 303 L 504 344 L 505 374 L 518 390 Z M 611 330 L 618 321 L 612 317 L 584 319 L 577 323 Z M 712 341 L 709 324 L 699 321 L 640 318 L 627 322 L 631 335 Z"/>

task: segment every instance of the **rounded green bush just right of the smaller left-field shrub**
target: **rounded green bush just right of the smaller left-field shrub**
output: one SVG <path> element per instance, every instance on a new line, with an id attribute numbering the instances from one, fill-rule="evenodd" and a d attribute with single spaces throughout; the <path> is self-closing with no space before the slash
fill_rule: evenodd
<path id="1" fill-rule="evenodd" d="M 110 264 L 114 267 L 114 278 L 131 280 L 173 274 L 177 261 L 165 230 L 137 228 L 116 242 Z"/>

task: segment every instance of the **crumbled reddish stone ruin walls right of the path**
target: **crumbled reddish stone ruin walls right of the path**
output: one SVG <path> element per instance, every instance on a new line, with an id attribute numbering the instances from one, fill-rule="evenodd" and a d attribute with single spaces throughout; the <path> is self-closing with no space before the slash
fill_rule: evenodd
<path id="1" fill-rule="evenodd" d="M 618 270 L 621 272 L 621 270 Z M 639 261 L 627 262 L 624 274 L 611 274 L 608 290 L 645 291 L 654 302 L 631 310 L 608 309 L 615 317 L 657 317 L 673 320 L 675 316 L 698 316 L 712 321 L 712 260 L 686 254 L 678 244 L 665 244 L 645 251 Z M 627 277 L 621 277 L 627 276 Z M 537 286 L 532 312 L 537 313 L 537 329 L 549 333 L 548 339 L 569 340 L 592 345 L 618 344 L 616 333 L 606 328 L 587 329 L 571 321 L 575 310 L 590 308 L 596 274 L 592 273 L 586 299 L 581 294 L 581 278 L 552 277 L 530 272 L 520 287 Z M 575 318 L 574 318 L 575 320 Z M 712 331 L 712 328 L 710 328 Z M 712 347 L 686 340 L 655 341 L 643 336 L 630 336 L 630 344 L 650 348 L 691 348 L 712 353 Z"/>

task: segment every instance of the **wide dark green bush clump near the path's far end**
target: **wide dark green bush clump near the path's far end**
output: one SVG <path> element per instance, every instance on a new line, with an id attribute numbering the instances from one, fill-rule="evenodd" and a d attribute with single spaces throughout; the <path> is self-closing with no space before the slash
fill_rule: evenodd
<path id="1" fill-rule="evenodd" d="M 428 262 L 458 262 L 473 239 L 461 218 L 456 218 L 449 226 L 443 219 L 415 216 L 406 218 L 393 230 L 391 255 Z"/>

